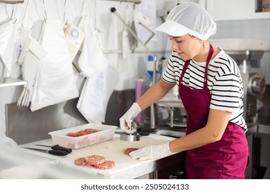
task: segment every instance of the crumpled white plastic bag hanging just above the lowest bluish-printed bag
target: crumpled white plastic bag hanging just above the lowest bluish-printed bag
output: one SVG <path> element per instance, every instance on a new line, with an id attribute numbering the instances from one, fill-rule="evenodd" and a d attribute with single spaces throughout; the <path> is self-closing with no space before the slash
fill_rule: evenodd
<path id="1" fill-rule="evenodd" d="M 83 77 L 90 77 L 97 70 L 108 65 L 108 59 L 102 52 L 101 39 L 98 32 L 94 30 L 89 19 L 82 21 L 82 30 L 85 37 L 82 44 L 82 52 L 78 59 L 78 67 Z"/>

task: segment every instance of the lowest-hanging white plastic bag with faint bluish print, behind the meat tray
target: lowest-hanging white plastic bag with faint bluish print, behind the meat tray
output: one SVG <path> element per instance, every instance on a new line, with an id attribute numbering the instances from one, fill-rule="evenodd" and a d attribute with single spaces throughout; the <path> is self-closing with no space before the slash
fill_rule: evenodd
<path id="1" fill-rule="evenodd" d="M 110 65 L 87 78 L 77 108 L 89 123 L 105 122 L 109 97 L 117 82 L 118 72 Z"/>

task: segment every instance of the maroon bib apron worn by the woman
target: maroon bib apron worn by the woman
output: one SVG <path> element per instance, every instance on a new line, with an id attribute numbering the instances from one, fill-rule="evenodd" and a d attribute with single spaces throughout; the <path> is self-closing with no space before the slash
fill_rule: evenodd
<path id="1" fill-rule="evenodd" d="M 208 65 L 213 55 L 210 45 L 204 88 L 192 90 L 181 84 L 190 63 L 186 61 L 179 79 L 179 95 L 188 113 L 186 134 L 204 128 L 208 120 L 210 91 L 207 88 Z M 243 128 L 228 122 L 222 139 L 186 152 L 187 179 L 245 179 L 249 147 Z"/>

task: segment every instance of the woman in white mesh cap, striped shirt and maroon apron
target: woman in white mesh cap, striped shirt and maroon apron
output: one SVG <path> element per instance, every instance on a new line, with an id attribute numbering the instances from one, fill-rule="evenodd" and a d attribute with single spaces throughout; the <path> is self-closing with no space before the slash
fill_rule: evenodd
<path id="1" fill-rule="evenodd" d="M 249 159 L 243 114 L 243 86 L 237 63 L 208 41 L 216 23 L 197 3 L 181 3 L 156 28 L 168 34 L 172 54 L 162 79 L 120 118 L 130 120 L 179 85 L 188 113 L 186 136 L 131 152 L 133 159 L 159 159 L 186 151 L 187 179 L 244 179 Z"/>

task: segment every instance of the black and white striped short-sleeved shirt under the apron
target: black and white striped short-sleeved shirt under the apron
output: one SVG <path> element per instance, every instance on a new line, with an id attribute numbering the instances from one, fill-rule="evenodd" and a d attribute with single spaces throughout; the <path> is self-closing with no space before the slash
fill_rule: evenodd
<path id="1" fill-rule="evenodd" d="M 179 78 L 185 61 L 172 52 L 162 78 L 168 83 L 179 85 Z M 190 60 L 188 69 L 181 83 L 191 89 L 204 88 L 204 72 L 206 62 Z M 232 112 L 230 121 L 240 125 L 246 132 L 243 118 L 243 83 L 237 63 L 224 50 L 221 50 L 208 65 L 207 86 L 210 90 L 210 109 Z"/>

